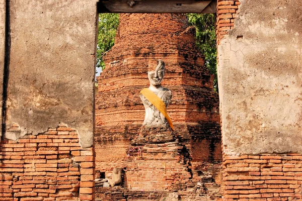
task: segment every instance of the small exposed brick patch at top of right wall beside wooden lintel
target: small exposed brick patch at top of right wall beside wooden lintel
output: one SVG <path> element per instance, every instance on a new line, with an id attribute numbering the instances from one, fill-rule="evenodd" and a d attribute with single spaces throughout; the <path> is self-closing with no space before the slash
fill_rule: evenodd
<path id="1" fill-rule="evenodd" d="M 239 0 L 218 0 L 217 2 L 217 22 L 216 22 L 216 40 L 219 45 L 224 35 L 228 34 L 228 30 L 234 28 L 234 20 L 238 16 Z"/>

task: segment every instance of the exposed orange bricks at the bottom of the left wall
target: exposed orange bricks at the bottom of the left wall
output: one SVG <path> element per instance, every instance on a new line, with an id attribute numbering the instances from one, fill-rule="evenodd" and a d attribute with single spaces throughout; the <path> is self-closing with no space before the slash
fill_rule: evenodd
<path id="1" fill-rule="evenodd" d="M 93 200 L 94 149 L 60 125 L 0 145 L 0 200 Z"/>

